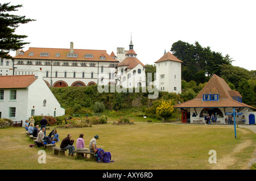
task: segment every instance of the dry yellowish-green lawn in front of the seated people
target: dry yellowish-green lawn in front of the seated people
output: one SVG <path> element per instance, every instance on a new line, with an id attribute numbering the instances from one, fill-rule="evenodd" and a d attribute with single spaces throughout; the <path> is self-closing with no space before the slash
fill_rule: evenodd
<path id="1" fill-rule="evenodd" d="M 248 169 L 256 145 L 256 134 L 248 129 L 237 128 L 235 139 L 232 126 L 219 125 L 107 123 L 86 128 L 57 128 L 57 131 L 60 140 L 72 134 L 75 146 L 79 134 L 84 133 L 87 148 L 90 139 L 98 134 L 97 145 L 110 151 L 114 162 L 96 163 L 93 159 L 69 157 L 68 153 L 61 157 L 46 150 L 46 164 L 39 164 L 40 149 L 29 147 L 34 143 L 25 136 L 25 129 L 7 128 L 0 129 L 0 169 Z M 208 161 L 210 150 L 216 150 L 216 164 Z"/>

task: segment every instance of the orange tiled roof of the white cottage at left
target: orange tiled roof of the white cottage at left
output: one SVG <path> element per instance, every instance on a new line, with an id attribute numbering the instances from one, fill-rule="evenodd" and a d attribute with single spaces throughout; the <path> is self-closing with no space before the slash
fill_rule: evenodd
<path id="1" fill-rule="evenodd" d="M 35 75 L 3 75 L 0 76 L 0 89 L 27 88 L 35 80 Z"/>

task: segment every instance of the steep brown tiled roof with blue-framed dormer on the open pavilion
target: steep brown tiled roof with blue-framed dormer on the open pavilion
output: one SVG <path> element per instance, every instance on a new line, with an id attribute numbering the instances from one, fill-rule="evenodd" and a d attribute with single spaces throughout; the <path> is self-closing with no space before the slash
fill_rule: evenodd
<path id="1" fill-rule="evenodd" d="M 204 94 L 218 94 L 218 100 L 205 100 L 203 101 Z M 231 94 L 231 95 L 230 95 Z M 197 94 L 195 99 L 188 100 L 187 102 L 177 104 L 176 108 L 193 108 L 193 107 L 249 107 L 253 108 L 245 103 L 237 102 L 232 99 L 232 96 L 240 96 L 240 93 L 231 90 L 224 79 L 214 74 L 208 81 L 207 85 Z"/>

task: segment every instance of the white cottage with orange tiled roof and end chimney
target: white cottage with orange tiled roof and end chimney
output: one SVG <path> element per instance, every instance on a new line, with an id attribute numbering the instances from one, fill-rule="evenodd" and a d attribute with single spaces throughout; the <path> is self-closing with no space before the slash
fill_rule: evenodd
<path id="1" fill-rule="evenodd" d="M 35 75 L 0 76 L 0 118 L 25 120 L 34 115 L 63 116 L 65 110 L 43 80 L 43 72 Z"/>

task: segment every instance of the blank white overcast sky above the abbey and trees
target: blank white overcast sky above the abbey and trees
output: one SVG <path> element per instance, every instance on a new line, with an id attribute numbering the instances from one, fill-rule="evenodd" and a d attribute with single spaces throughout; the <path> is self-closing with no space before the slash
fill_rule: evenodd
<path id="1" fill-rule="evenodd" d="M 1 3 L 10 2 L 2 0 Z M 36 19 L 20 25 L 29 47 L 102 49 L 117 55 L 129 49 L 131 33 L 137 58 L 154 64 L 178 40 L 229 54 L 234 66 L 256 70 L 255 0 L 12 0 L 23 5 L 12 14 Z M 14 56 L 14 52 L 10 53 Z"/>

